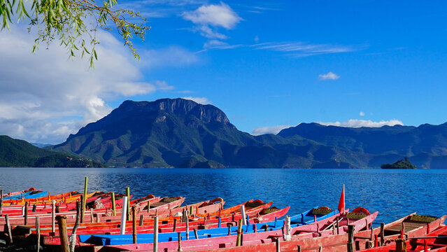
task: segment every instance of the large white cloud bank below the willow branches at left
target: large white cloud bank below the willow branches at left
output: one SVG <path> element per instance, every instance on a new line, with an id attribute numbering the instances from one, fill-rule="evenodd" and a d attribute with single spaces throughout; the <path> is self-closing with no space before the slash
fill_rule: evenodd
<path id="1" fill-rule="evenodd" d="M 1 33 L 0 134 L 58 144 L 110 113 L 107 102 L 173 88 L 162 81 L 140 81 L 138 62 L 106 31 L 97 31 L 101 43 L 94 69 L 88 69 L 86 59 L 67 59 L 57 41 L 50 50 L 31 54 L 34 35 L 18 26 Z M 157 60 L 162 61 L 152 62 Z"/>

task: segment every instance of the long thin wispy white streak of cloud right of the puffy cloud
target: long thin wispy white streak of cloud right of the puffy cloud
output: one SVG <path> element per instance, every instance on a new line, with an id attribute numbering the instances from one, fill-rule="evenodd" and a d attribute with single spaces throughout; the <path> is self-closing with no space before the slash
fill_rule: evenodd
<path id="1" fill-rule="evenodd" d="M 301 41 L 258 43 L 251 46 L 257 50 L 274 50 L 278 52 L 285 52 L 295 57 L 354 52 L 361 50 L 364 47 L 353 47 L 350 45 L 309 44 Z"/>

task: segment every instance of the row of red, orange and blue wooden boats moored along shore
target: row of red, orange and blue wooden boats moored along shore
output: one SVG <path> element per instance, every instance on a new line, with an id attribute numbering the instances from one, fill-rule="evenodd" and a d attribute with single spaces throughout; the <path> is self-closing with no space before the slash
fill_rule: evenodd
<path id="1" fill-rule="evenodd" d="M 446 216 L 413 213 L 373 228 L 378 212 L 345 209 L 344 188 L 337 209 L 296 216 L 262 200 L 184 202 L 133 199 L 128 189 L 50 195 L 29 188 L 2 195 L 0 239 L 48 251 L 447 251 Z"/>

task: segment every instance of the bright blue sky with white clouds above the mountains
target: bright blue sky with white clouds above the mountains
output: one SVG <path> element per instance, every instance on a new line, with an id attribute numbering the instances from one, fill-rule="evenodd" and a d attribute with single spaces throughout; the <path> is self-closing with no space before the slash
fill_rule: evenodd
<path id="1" fill-rule="evenodd" d="M 377 127 L 447 121 L 442 112 L 447 109 L 445 1 L 120 3 L 141 11 L 152 27 L 145 41 L 136 41 L 141 61 L 135 62 L 119 37 L 106 31 L 94 70 L 82 60 L 59 59 L 66 52 L 57 45 L 52 52 L 39 51 L 31 60 L 52 69 L 57 58 L 59 71 L 72 72 L 75 65 L 76 81 L 51 85 L 49 92 L 60 90 L 48 98 L 30 91 L 29 80 L 0 78 L 0 89 L 20 97 L 13 105 L 0 100 L 0 121 L 9 123 L 0 134 L 57 143 L 125 99 L 164 97 L 218 106 L 239 130 L 255 134 L 310 122 Z M 9 41 L 26 40 L 16 28 L 6 36 Z M 0 38 L 5 34 L 1 31 Z M 26 44 L 16 50 L 29 57 Z M 54 80 L 45 71 L 34 74 Z M 6 80 L 22 82 L 24 88 L 6 88 Z M 81 88 L 78 83 L 90 84 Z M 55 97 L 69 97 L 57 113 Z M 71 99 L 85 101 L 70 105 L 66 101 Z M 30 100 L 29 106 L 17 105 Z M 36 123 L 41 114 L 45 118 Z"/>

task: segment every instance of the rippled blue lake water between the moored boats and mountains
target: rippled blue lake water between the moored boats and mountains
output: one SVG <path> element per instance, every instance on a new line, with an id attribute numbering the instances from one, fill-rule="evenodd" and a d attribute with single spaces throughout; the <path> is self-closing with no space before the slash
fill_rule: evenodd
<path id="1" fill-rule="evenodd" d="M 35 187 L 52 195 L 71 190 L 184 196 L 186 203 L 222 197 L 227 207 L 250 199 L 290 206 L 290 215 L 315 206 L 336 209 L 346 185 L 346 207 L 379 211 L 376 225 L 414 211 L 447 214 L 447 169 L 71 169 L 0 168 L 3 192 Z"/>

